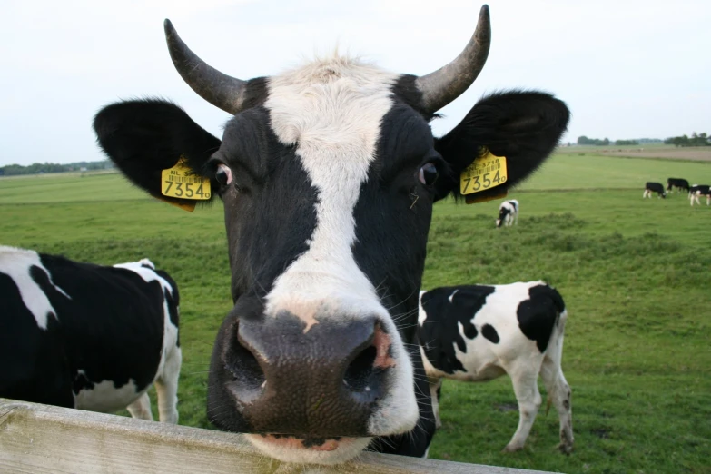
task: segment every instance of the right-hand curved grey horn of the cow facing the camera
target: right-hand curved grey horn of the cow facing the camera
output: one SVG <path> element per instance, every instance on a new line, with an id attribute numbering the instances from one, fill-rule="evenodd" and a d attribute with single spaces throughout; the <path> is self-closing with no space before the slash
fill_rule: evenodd
<path id="1" fill-rule="evenodd" d="M 437 112 L 469 88 L 487 62 L 490 44 L 489 5 L 484 5 L 479 11 L 477 29 L 464 51 L 434 73 L 417 78 L 416 84 L 428 112 Z"/>

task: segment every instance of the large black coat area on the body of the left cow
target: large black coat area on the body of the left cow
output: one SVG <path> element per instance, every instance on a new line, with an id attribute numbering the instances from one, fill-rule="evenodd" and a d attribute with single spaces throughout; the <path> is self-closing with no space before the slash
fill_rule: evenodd
<path id="1" fill-rule="evenodd" d="M 161 284 L 130 270 L 54 255 L 40 254 L 40 261 L 49 275 L 38 266 L 29 272 L 55 311 L 47 315 L 46 330 L 0 265 L 0 397 L 74 408 L 74 394 L 103 380 L 117 388 L 133 380 L 136 390 L 144 390 L 163 349 L 167 295 Z M 178 288 L 167 273 L 156 272 L 173 287 L 168 306 L 177 326 Z"/>

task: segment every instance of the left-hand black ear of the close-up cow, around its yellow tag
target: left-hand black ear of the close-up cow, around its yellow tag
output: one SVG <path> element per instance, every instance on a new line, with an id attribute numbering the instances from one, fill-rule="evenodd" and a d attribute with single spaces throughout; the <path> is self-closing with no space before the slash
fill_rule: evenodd
<path id="1" fill-rule="evenodd" d="M 163 170 L 183 158 L 193 173 L 205 176 L 204 165 L 221 143 L 183 109 L 156 99 L 107 105 L 94 117 L 94 132 L 104 153 L 129 180 L 181 207 L 194 207 L 196 201 L 164 196 Z"/>

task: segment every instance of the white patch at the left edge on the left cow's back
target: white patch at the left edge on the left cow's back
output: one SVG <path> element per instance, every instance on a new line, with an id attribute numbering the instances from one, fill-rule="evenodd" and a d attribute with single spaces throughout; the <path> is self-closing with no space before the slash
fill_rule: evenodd
<path id="1" fill-rule="evenodd" d="M 37 252 L 0 246 L 0 273 L 5 273 L 15 281 L 25 307 L 35 316 L 37 326 L 46 330 L 47 316 L 53 314 L 54 318 L 56 318 L 56 311 L 54 311 L 52 303 L 47 298 L 47 295 L 44 294 L 42 288 L 30 275 L 30 269 L 33 266 L 42 269 L 47 274 L 49 282 L 56 291 L 59 291 L 68 299 L 72 299 L 64 290 L 54 284 L 52 275 L 44 268 Z"/>

